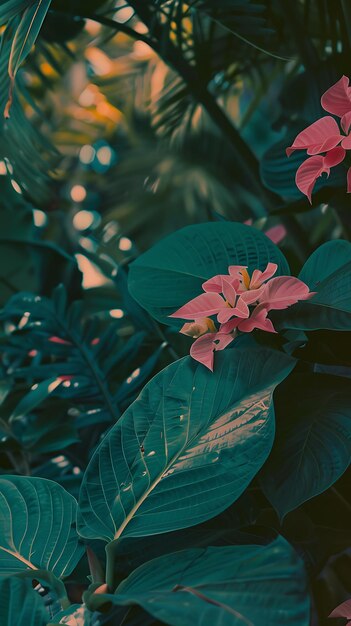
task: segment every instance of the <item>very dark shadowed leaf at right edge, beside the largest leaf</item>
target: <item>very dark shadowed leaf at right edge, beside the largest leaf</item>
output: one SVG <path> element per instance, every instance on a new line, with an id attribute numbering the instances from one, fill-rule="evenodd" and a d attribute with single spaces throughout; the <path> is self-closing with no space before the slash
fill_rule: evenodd
<path id="1" fill-rule="evenodd" d="M 274 404 L 277 431 L 261 484 L 284 517 L 331 487 L 350 463 L 350 380 L 293 374 L 277 390 Z"/>

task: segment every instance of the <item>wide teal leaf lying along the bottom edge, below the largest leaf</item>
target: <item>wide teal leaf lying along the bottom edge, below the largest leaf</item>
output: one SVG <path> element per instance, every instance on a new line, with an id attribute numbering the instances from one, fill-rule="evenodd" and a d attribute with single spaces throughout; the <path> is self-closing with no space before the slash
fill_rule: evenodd
<path id="1" fill-rule="evenodd" d="M 138 604 L 170 626 L 308 626 L 306 573 L 278 537 L 268 546 L 183 550 L 138 567 L 98 604 Z"/>

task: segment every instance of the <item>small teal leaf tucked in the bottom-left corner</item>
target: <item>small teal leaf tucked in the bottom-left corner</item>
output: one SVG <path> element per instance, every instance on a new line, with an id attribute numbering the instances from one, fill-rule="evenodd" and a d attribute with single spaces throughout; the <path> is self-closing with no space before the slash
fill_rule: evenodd
<path id="1" fill-rule="evenodd" d="M 0 579 L 1 626 L 45 626 L 49 615 L 30 580 Z"/>

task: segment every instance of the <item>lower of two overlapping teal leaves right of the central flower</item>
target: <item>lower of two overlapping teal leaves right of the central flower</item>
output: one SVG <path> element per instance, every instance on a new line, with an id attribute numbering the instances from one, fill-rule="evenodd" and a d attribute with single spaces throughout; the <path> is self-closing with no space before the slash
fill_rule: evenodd
<path id="1" fill-rule="evenodd" d="M 317 259 L 316 259 L 317 260 Z M 309 282 L 312 273 L 306 271 Z M 317 293 L 285 311 L 273 312 L 277 329 L 350 330 L 351 328 L 351 261 L 336 269 L 316 287 Z"/>

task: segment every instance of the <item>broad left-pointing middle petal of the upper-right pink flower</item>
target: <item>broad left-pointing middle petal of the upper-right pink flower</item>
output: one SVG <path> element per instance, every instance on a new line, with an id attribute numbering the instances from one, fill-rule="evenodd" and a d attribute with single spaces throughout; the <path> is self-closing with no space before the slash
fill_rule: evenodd
<path id="1" fill-rule="evenodd" d="M 326 152 L 337 146 L 341 139 L 342 135 L 336 121 L 326 115 L 302 130 L 292 146 L 286 149 L 286 154 L 290 156 L 294 150 L 308 150 L 308 154 Z"/>

